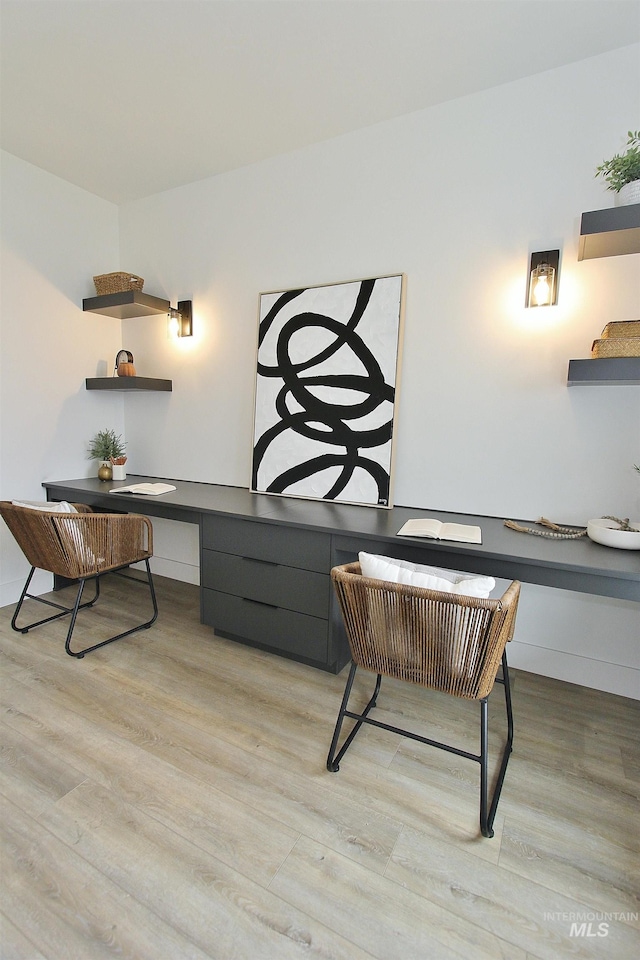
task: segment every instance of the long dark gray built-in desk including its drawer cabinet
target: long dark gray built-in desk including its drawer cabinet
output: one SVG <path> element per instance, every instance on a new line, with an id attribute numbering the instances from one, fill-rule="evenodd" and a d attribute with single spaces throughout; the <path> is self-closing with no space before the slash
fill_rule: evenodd
<path id="1" fill-rule="evenodd" d="M 176 490 L 159 497 L 109 492 L 158 479 L 165 481 L 129 476 L 43 486 L 48 500 L 197 523 L 202 622 L 221 636 L 332 672 L 348 662 L 349 651 L 329 572 L 359 550 L 640 602 L 640 552 L 613 550 L 586 537 L 527 536 L 505 527 L 502 518 L 274 497 L 184 480 L 166 480 Z M 477 524 L 482 544 L 396 535 L 405 520 L 421 516 Z"/>

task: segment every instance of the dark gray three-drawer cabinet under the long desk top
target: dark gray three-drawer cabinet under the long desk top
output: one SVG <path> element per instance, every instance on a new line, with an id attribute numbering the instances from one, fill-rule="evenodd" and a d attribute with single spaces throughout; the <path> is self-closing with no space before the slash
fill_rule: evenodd
<path id="1" fill-rule="evenodd" d="M 201 548 L 203 623 L 220 636 L 316 667 L 339 670 L 346 663 L 348 653 L 333 649 L 329 628 L 329 534 L 205 516 Z"/>

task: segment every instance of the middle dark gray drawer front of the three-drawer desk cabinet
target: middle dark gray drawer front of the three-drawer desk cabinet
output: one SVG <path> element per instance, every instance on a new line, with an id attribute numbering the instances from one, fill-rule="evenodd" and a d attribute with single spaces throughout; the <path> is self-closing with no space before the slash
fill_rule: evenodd
<path id="1" fill-rule="evenodd" d="M 331 578 L 277 563 L 202 551 L 202 586 L 312 617 L 329 617 Z"/>

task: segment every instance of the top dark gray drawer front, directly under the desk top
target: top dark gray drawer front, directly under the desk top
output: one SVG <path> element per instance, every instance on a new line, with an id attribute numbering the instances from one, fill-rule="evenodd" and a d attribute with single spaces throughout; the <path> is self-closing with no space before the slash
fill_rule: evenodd
<path id="1" fill-rule="evenodd" d="M 318 573 L 329 573 L 331 569 L 331 537 L 317 530 L 300 530 L 235 517 L 205 516 L 202 546 Z"/>

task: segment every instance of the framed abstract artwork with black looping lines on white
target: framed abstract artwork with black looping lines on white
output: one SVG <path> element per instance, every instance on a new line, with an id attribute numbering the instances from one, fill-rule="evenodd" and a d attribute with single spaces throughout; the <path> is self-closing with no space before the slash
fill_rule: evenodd
<path id="1" fill-rule="evenodd" d="M 260 295 L 252 490 L 391 506 L 403 279 Z"/>

